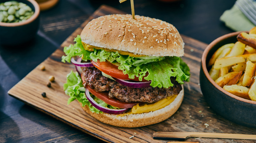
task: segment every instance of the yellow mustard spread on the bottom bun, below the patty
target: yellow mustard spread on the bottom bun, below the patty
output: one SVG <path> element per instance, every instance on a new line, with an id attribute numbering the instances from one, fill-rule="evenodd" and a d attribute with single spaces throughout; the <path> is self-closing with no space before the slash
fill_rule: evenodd
<path id="1" fill-rule="evenodd" d="M 125 116 L 129 114 L 147 113 L 147 112 L 159 110 L 169 105 L 170 103 L 172 103 L 176 97 L 177 95 L 172 95 L 164 99 L 161 99 L 155 103 L 149 103 L 149 104 L 143 104 L 143 105 L 136 104 L 132 107 L 131 110 L 129 110 L 127 113 L 120 114 L 120 116 Z"/>

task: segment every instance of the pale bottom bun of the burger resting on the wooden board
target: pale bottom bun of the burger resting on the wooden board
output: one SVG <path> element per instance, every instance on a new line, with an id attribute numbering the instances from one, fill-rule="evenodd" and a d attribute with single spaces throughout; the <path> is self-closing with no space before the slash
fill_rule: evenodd
<path id="1" fill-rule="evenodd" d="M 184 96 L 184 87 L 183 85 L 181 86 L 182 90 L 172 103 L 170 103 L 162 109 L 147 113 L 130 114 L 126 116 L 113 115 L 107 113 L 96 114 L 91 112 L 88 106 L 82 107 L 82 103 L 80 103 L 80 105 L 86 113 L 90 114 L 92 117 L 103 123 L 127 128 L 142 127 L 156 124 L 165 119 L 168 119 L 179 109 Z"/>

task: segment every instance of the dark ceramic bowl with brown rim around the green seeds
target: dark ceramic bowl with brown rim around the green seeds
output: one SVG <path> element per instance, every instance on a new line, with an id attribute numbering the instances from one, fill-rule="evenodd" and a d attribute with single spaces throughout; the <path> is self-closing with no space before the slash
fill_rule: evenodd
<path id="1" fill-rule="evenodd" d="M 0 3 L 10 0 L 0 0 Z M 32 40 L 39 28 L 40 8 L 35 0 L 16 0 L 27 4 L 32 8 L 34 14 L 26 21 L 20 23 L 3 23 L 0 22 L 0 44 L 19 45 Z"/>

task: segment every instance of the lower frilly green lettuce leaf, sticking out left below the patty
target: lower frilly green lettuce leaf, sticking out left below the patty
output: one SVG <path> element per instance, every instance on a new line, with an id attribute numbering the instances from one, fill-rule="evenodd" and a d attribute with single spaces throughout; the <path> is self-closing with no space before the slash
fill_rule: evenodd
<path id="1" fill-rule="evenodd" d="M 95 112 L 97 114 L 99 114 L 99 113 L 102 114 L 102 111 L 95 108 L 86 98 L 85 88 L 82 84 L 82 79 L 80 78 L 80 76 L 78 75 L 77 72 L 71 71 L 67 75 L 67 83 L 65 83 L 63 87 L 65 90 L 65 94 L 69 95 L 69 97 L 70 97 L 68 99 L 68 104 L 70 104 L 74 100 L 77 100 L 78 102 L 82 103 L 83 106 L 87 105 L 93 113 Z M 96 96 L 94 96 L 92 94 L 90 94 L 90 95 L 94 99 L 94 101 L 96 101 L 96 103 L 98 103 L 99 105 L 101 105 L 103 107 L 108 107 L 110 109 L 119 109 L 115 106 L 105 103 L 104 101 L 100 100 L 99 98 L 97 98 Z"/>

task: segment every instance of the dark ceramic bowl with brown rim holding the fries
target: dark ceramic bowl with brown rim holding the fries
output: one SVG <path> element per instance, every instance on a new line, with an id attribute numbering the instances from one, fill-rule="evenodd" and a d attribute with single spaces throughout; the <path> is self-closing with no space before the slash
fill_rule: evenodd
<path id="1" fill-rule="evenodd" d="M 200 68 L 200 86 L 209 106 L 224 118 L 251 128 L 256 128 L 256 101 L 231 94 L 218 86 L 210 77 L 206 67 L 213 53 L 224 44 L 235 43 L 241 32 L 226 34 L 211 42 L 203 52 Z"/>

